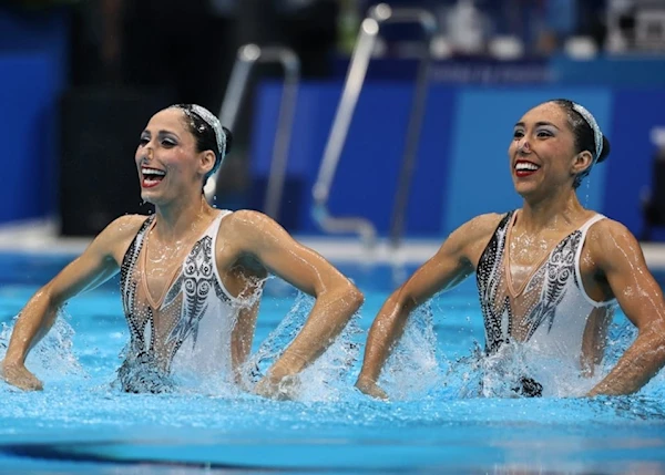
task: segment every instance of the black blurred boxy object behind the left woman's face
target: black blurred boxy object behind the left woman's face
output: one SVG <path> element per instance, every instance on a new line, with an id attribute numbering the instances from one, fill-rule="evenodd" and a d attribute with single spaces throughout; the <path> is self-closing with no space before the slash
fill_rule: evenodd
<path id="1" fill-rule="evenodd" d="M 147 117 L 168 101 L 160 92 L 71 90 L 62 99 L 60 219 L 64 236 L 94 236 L 113 219 L 146 214 L 134 153 Z"/>

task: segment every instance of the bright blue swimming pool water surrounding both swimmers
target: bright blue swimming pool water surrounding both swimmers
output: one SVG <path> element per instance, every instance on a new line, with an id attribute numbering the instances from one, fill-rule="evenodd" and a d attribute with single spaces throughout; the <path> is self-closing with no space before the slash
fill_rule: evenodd
<path id="1" fill-rule="evenodd" d="M 0 256 L 0 322 L 10 326 L 68 260 Z M 357 328 L 304 378 L 301 396 L 291 402 L 228 389 L 120 393 L 110 386 L 127 340 L 116 282 L 72 300 L 29 360 L 45 390 L 22 393 L 0 383 L 0 473 L 665 473 L 663 374 L 631 397 L 502 399 L 468 391 L 472 349 L 483 342 L 472 279 L 416 316 L 385 375 L 395 400 L 361 395 L 351 384 L 364 332 L 392 289 L 392 273 L 341 269 L 366 293 Z M 255 352 L 269 361 L 270 342 L 285 338 L 275 335 L 278 323 L 286 317 L 288 333 L 309 303 L 272 281 Z M 610 358 L 632 338 L 621 314 L 612 335 Z"/>

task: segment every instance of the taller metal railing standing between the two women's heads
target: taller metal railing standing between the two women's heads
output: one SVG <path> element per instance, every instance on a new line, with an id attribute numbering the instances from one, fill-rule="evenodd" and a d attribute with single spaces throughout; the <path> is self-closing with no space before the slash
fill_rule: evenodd
<path id="1" fill-rule="evenodd" d="M 365 83 L 377 37 L 380 33 L 380 27 L 386 23 L 420 24 L 426 35 L 423 47 L 427 49 L 427 51 L 423 51 L 418 70 L 416 93 L 407 128 L 407 143 L 391 224 L 393 240 L 395 236 L 401 235 L 427 97 L 427 82 L 431 62 L 430 43 L 437 32 L 437 19 L 430 11 L 418 8 L 391 9 L 385 3 L 377 4 L 369 10 L 367 18 L 360 25 L 341 99 L 332 122 L 330 135 L 328 136 L 317 180 L 313 187 L 313 217 L 317 224 L 328 233 L 355 233 L 360 236 L 367 247 L 374 247 L 376 244 L 377 230 L 375 225 L 370 220 L 359 216 L 331 216 L 328 210 L 328 198 L 354 111 L 358 103 L 358 96 Z"/>

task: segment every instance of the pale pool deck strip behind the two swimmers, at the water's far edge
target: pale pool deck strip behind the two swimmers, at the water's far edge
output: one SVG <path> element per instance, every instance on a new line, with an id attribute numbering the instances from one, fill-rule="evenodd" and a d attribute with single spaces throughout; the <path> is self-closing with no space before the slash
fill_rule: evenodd
<path id="1" fill-rule="evenodd" d="M 405 239 L 395 248 L 387 239 L 368 247 L 357 238 L 294 236 L 337 264 L 420 265 L 442 242 L 436 239 Z M 0 225 L 0 252 L 79 255 L 91 242 L 88 237 L 61 237 L 55 220 L 40 219 Z M 642 242 L 651 269 L 665 270 L 665 242 Z"/>

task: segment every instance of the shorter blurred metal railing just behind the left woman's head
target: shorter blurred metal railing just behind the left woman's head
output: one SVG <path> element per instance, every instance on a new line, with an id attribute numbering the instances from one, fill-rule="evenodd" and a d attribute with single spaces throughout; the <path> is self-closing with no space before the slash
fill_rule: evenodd
<path id="1" fill-rule="evenodd" d="M 264 203 L 264 213 L 273 218 L 277 218 L 284 192 L 296 99 L 300 82 L 300 61 L 297 54 L 285 47 L 258 47 L 256 44 L 241 47 L 218 117 L 222 125 L 228 127 L 231 131 L 234 130 L 245 95 L 245 89 L 249 81 L 249 74 L 257 62 L 278 63 L 282 64 L 284 70 L 284 89 L 282 91 L 275 145 L 273 147 L 273 158 Z M 209 177 L 204 188 L 205 197 L 211 204 L 217 193 L 218 175 L 219 171 Z"/>

